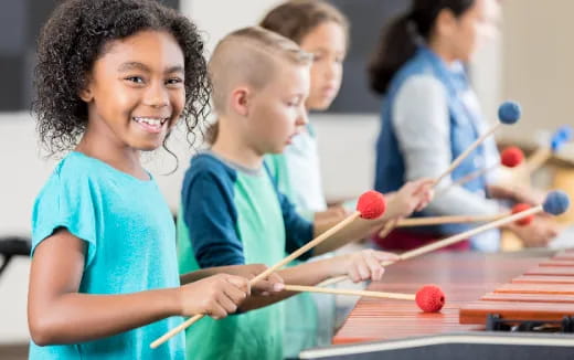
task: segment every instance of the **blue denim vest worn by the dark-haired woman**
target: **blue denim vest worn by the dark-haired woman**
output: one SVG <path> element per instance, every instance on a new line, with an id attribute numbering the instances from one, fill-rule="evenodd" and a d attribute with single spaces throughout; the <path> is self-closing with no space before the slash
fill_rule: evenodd
<path id="1" fill-rule="evenodd" d="M 396 191 L 405 183 L 404 157 L 398 147 L 398 140 L 394 133 L 392 107 L 401 86 L 414 75 L 432 75 L 444 84 L 450 124 L 450 152 L 456 159 L 478 137 L 478 114 L 466 106 L 460 94 L 468 89 L 468 81 L 464 71 L 454 72 L 428 47 L 421 46 L 416 54 L 393 77 L 386 97 L 382 106 L 382 128 L 376 141 L 376 172 L 375 189 L 381 192 Z M 424 129 L 421 129 L 424 131 Z M 470 172 L 482 168 L 485 163 L 485 148 L 479 146 L 453 171 L 453 181 L 460 179 Z M 472 192 L 486 192 L 486 178 L 478 177 L 464 184 Z M 428 211 L 415 214 L 415 216 L 431 216 Z M 416 227 L 414 231 L 434 233 L 437 235 L 450 235 L 469 229 L 466 224 L 447 224 L 438 226 Z"/>

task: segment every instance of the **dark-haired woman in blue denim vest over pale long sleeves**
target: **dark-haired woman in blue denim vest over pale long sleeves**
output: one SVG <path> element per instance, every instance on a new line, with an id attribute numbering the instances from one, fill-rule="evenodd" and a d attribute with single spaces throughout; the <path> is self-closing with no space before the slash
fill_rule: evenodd
<path id="1" fill-rule="evenodd" d="M 414 0 L 410 12 L 395 20 L 382 36 L 370 64 L 371 87 L 384 95 L 382 129 L 376 142 L 375 189 L 396 191 L 405 181 L 436 178 L 464 152 L 488 125 L 469 86 L 465 63 L 486 24 L 486 0 Z M 492 138 L 478 147 L 440 183 L 456 181 L 499 161 Z M 453 186 L 418 215 L 488 215 L 504 211 L 497 197 L 535 202 L 528 193 L 478 177 Z M 527 199 L 530 198 L 530 199 Z M 555 226 L 536 221 L 530 229 L 510 229 L 527 245 L 545 245 Z M 439 225 L 395 230 L 378 243 L 389 250 L 408 250 L 467 230 L 467 225 Z M 498 230 L 482 233 L 457 248 L 499 250 Z"/>

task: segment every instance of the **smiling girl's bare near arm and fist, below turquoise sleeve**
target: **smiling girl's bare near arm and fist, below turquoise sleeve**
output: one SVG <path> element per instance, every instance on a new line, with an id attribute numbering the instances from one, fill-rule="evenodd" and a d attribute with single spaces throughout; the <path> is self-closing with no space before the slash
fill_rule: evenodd
<path id="1" fill-rule="evenodd" d="M 85 242 L 65 229 L 36 246 L 28 295 L 28 322 L 36 345 L 95 340 L 176 315 L 224 317 L 235 311 L 249 292 L 244 278 L 219 275 L 178 288 L 81 294 L 84 254 Z"/>

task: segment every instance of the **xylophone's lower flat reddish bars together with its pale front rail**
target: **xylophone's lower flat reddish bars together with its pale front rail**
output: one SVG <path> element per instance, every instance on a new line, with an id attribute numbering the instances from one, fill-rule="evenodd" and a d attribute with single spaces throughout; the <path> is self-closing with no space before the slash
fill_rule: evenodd
<path id="1" fill-rule="evenodd" d="M 485 321 L 476 321 L 476 324 L 459 321 L 460 308 L 480 298 L 485 293 L 501 287 L 510 279 L 519 278 L 528 269 L 546 264 L 551 255 L 552 252 L 546 250 L 500 254 L 440 252 L 396 263 L 386 268 L 383 282 L 372 283 L 368 289 L 413 293 L 422 284 L 436 283 L 444 290 L 447 299 L 440 313 L 424 314 L 416 305 L 400 300 L 361 298 L 332 339 L 333 345 L 340 346 L 305 351 L 300 358 L 426 359 L 434 356 L 437 359 L 468 360 L 485 359 L 488 356 L 489 360 L 492 360 L 518 359 L 513 357 L 517 354 L 521 354 L 520 359 L 538 358 L 524 357 L 522 352 L 525 350 L 517 345 L 528 342 L 531 347 L 527 347 L 527 350 L 531 354 L 548 353 L 546 347 L 551 347 L 553 360 L 572 359 L 574 358 L 572 335 L 549 337 L 548 335 L 490 332 L 485 331 Z M 574 253 L 572 255 L 574 260 Z M 561 262 L 564 260 L 562 258 Z M 574 294 L 571 298 L 574 298 Z M 574 309 L 574 303 L 568 306 Z M 364 345 L 364 341 L 378 342 Z M 536 347 L 532 347 L 533 343 L 536 343 Z M 457 352 L 457 349 L 461 352 Z M 566 349 L 564 353 L 567 357 L 561 358 L 561 349 Z M 463 357 L 461 353 L 465 356 Z"/>

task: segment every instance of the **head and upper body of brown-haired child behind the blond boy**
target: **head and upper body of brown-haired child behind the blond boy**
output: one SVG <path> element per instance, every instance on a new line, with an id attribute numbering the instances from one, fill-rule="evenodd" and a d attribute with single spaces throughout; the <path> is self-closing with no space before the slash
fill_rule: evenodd
<path id="1" fill-rule="evenodd" d="M 308 110 L 326 110 L 339 93 L 347 55 L 349 23 L 325 1 L 287 1 L 270 10 L 261 27 L 296 42 L 312 54 Z M 328 209 L 321 184 L 317 136 L 308 123 L 283 153 L 270 156 L 269 166 L 297 211 L 309 220 L 344 216 L 341 207 Z"/>

